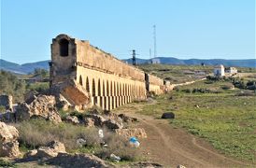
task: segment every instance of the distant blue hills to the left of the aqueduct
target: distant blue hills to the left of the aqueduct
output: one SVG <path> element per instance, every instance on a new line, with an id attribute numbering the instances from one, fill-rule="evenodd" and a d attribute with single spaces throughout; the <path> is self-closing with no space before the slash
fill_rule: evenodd
<path id="1" fill-rule="evenodd" d="M 0 69 L 13 72 L 16 74 L 29 74 L 34 72 L 36 68 L 49 70 L 49 62 L 50 61 L 42 61 L 42 62 L 36 62 L 36 63 L 18 64 L 18 63 L 10 63 L 0 59 Z"/>

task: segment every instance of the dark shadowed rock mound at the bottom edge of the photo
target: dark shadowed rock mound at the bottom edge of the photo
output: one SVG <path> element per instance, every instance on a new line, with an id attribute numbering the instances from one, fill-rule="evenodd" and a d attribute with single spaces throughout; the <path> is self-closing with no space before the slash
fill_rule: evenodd
<path id="1" fill-rule="evenodd" d="M 101 160 L 100 158 L 92 155 L 92 154 L 67 154 L 67 153 L 59 153 L 57 157 L 51 158 L 47 161 L 51 165 L 57 165 L 60 167 L 68 168 L 68 167 L 94 167 L 94 168 L 105 168 L 112 167 L 107 164 L 106 161 Z M 114 167 L 114 166 L 113 166 Z"/>

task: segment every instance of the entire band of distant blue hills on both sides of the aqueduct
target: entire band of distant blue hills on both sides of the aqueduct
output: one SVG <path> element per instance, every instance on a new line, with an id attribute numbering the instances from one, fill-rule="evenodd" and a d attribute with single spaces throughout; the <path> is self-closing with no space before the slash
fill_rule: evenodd
<path id="1" fill-rule="evenodd" d="M 223 59 L 211 59 L 211 60 L 201 60 L 201 59 L 189 59 L 189 60 L 180 60 L 173 57 L 157 57 L 156 59 L 160 60 L 160 63 L 163 64 L 184 64 L 184 65 L 196 65 L 205 63 L 206 65 L 215 65 L 223 64 L 224 66 L 239 66 L 239 67 L 256 67 L 256 60 L 223 60 Z M 133 63 L 132 59 L 122 60 L 123 62 Z M 0 59 L 0 69 L 10 71 L 16 74 L 29 74 L 34 72 L 35 68 L 41 68 L 49 70 L 50 61 L 42 61 L 36 63 L 10 63 L 5 60 Z M 151 59 L 136 59 L 136 63 L 150 63 Z"/>

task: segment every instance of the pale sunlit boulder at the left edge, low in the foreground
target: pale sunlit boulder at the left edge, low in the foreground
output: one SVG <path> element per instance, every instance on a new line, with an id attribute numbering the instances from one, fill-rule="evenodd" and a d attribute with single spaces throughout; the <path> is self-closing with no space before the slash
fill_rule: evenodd
<path id="1" fill-rule="evenodd" d="M 0 157 L 18 157 L 19 150 L 18 130 L 5 122 L 0 122 Z"/>

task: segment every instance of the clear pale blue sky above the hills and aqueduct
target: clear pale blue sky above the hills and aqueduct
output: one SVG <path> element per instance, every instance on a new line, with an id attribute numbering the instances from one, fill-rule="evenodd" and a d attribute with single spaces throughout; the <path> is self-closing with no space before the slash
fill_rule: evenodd
<path id="1" fill-rule="evenodd" d="M 254 0 L 1 0 L 1 58 L 50 60 L 67 34 L 123 59 L 136 49 L 179 59 L 255 58 Z"/>

